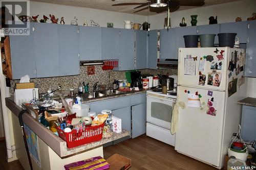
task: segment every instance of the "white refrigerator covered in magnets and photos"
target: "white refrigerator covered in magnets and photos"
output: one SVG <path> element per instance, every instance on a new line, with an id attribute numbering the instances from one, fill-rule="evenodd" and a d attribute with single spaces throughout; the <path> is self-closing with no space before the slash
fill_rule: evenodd
<path id="1" fill-rule="evenodd" d="M 246 97 L 245 50 L 229 47 L 179 48 L 175 150 L 217 168 L 241 121 Z"/>

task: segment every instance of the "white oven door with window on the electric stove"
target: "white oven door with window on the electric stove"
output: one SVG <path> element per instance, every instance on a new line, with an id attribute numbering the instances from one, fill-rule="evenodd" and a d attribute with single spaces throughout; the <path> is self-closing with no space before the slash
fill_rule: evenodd
<path id="1" fill-rule="evenodd" d="M 147 94 L 146 122 L 170 129 L 175 99 Z"/>

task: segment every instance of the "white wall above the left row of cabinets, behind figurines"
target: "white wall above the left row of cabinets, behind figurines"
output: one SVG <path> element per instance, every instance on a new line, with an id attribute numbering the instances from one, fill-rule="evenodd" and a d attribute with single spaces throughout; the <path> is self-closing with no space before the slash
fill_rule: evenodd
<path id="1" fill-rule="evenodd" d="M 63 16 L 65 24 L 70 25 L 71 20 L 74 20 L 76 16 L 78 25 L 83 25 L 84 19 L 86 19 L 90 26 L 90 20 L 93 19 L 95 22 L 99 23 L 100 27 L 106 27 L 106 22 L 113 22 L 114 28 L 124 28 L 123 20 L 132 20 L 139 23 L 143 23 L 147 20 L 147 16 L 142 15 L 30 1 L 30 16 L 36 16 L 38 14 L 38 21 L 43 15 L 50 18 L 49 14 L 51 14 L 59 18 L 59 21 Z M 48 20 L 47 22 L 51 21 Z"/>

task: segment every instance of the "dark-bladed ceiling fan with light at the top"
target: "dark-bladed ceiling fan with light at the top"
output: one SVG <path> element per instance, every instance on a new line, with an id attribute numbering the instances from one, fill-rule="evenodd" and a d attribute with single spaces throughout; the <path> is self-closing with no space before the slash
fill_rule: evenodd
<path id="1" fill-rule="evenodd" d="M 115 1 L 115 0 L 112 0 Z M 128 6 L 128 5 L 139 5 L 134 9 L 141 8 L 136 12 L 143 11 L 145 9 L 150 8 L 151 12 L 161 13 L 167 11 L 169 7 L 170 12 L 174 12 L 180 8 L 180 6 L 196 6 L 200 7 L 204 5 L 204 0 L 147 0 L 147 3 L 119 3 L 113 4 L 112 6 Z"/>

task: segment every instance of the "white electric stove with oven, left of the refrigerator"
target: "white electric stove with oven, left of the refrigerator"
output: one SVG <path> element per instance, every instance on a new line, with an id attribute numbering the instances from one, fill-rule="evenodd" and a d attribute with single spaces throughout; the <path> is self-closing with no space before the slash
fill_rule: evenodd
<path id="1" fill-rule="evenodd" d="M 170 133 L 170 123 L 177 93 L 147 90 L 146 98 L 146 135 L 174 146 L 175 135 Z"/>

